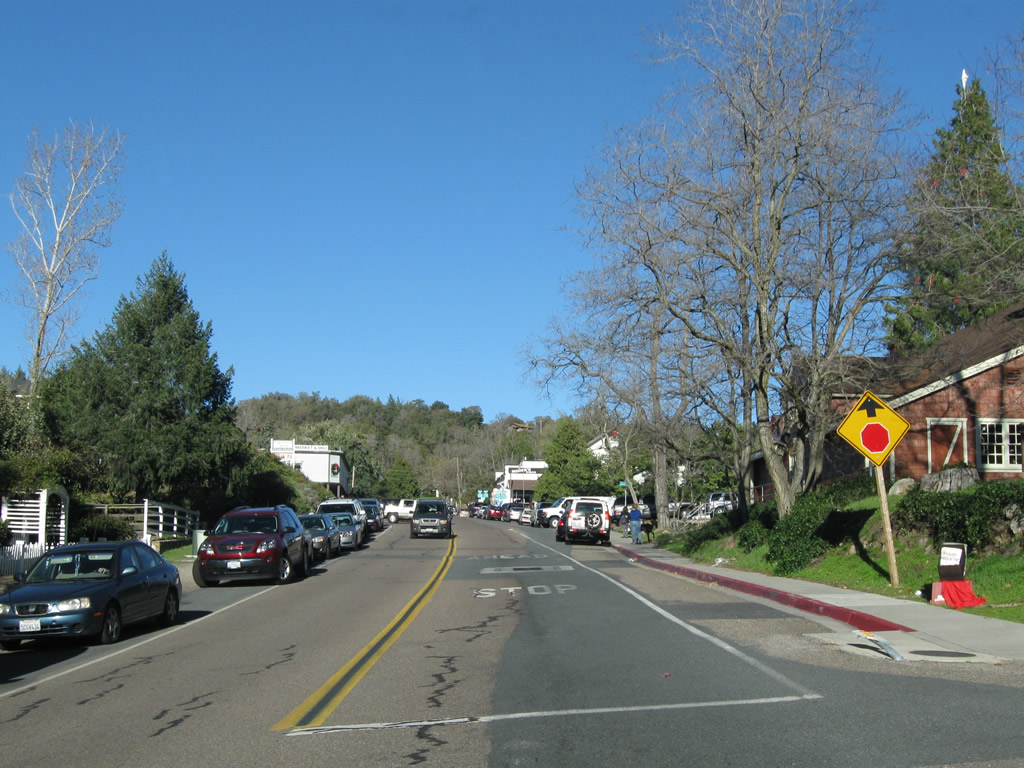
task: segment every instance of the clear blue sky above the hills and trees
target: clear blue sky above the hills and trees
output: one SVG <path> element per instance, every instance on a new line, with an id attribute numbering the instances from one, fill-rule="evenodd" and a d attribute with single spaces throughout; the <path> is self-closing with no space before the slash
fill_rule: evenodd
<path id="1" fill-rule="evenodd" d="M 883 0 L 893 83 L 951 115 L 961 70 L 1024 30 L 1016 0 Z M 669 0 L 4 0 L 0 243 L 34 127 L 127 134 L 125 212 L 100 254 L 80 338 L 163 251 L 184 272 L 237 399 L 569 413 L 521 350 L 588 266 L 573 184 L 608 131 L 671 84 L 644 31 Z M 0 258 L 0 287 L 16 267 Z M 26 367 L 0 303 L 0 366 Z"/>

